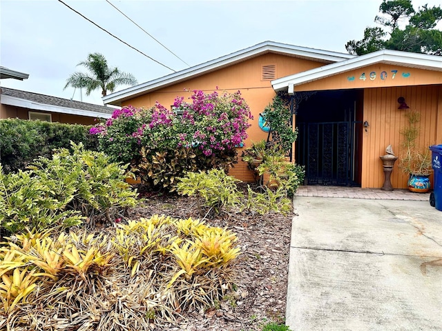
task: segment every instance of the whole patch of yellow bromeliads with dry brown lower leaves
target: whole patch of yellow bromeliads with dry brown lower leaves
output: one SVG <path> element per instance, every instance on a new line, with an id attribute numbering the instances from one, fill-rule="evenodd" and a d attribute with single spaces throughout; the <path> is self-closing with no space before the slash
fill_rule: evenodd
<path id="1" fill-rule="evenodd" d="M 236 240 L 157 215 L 99 233 L 17 234 L 0 248 L 0 329 L 161 329 L 233 288 Z"/>

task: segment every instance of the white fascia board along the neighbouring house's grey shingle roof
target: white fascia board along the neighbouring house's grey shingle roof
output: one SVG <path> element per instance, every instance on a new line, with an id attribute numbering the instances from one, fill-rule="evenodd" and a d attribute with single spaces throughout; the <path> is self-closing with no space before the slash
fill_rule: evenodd
<path id="1" fill-rule="evenodd" d="M 46 103 L 39 103 L 17 97 L 11 97 L 5 94 L 1 94 L 1 103 L 8 106 L 28 108 L 30 110 L 43 110 L 45 112 L 58 112 L 61 114 L 71 114 L 86 117 L 100 117 L 104 119 L 109 119 L 112 116 L 112 114 L 106 114 L 104 112 L 92 112 L 90 110 L 53 106 Z"/>

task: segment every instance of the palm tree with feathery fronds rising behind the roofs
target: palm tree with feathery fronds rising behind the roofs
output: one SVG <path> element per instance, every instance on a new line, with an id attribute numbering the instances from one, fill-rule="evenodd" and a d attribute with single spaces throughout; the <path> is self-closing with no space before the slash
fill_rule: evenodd
<path id="1" fill-rule="evenodd" d="M 132 74 L 120 72 L 118 68 L 109 68 L 106 58 L 99 53 L 88 55 L 86 61 L 81 61 L 77 66 L 84 66 L 89 70 L 88 74 L 83 72 L 74 72 L 66 81 L 66 89 L 68 86 L 73 88 L 85 88 L 86 95 L 89 95 L 97 88 L 102 89 L 102 96 L 105 97 L 107 92 L 113 92 L 119 85 L 135 85 L 137 79 Z"/>

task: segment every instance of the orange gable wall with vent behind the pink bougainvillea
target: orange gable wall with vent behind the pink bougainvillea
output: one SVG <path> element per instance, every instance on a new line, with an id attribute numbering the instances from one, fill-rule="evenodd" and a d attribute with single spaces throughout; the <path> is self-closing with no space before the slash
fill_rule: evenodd
<path id="1" fill-rule="evenodd" d="M 155 104 L 155 101 L 158 101 L 166 108 L 169 108 L 173 105 L 173 101 L 176 97 L 181 96 L 184 97 L 184 99 L 190 97 L 192 92 L 186 91 L 204 90 L 204 92 L 210 93 L 216 90 L 217 87 L 218 90 L 225 90 L 227 92 L 240 90 L 242 97 L 247 101 L 254 117 L 251 122 L 251 128 L 247 130 L 249 138 L 244 142 L 244 147 L 247 147 L 251 141 L 267 139 L 267 133 L 260 130 L 258 126 L 258 118 L 260 112 L 264 110 L 271 102 L 271 99 L 276 95 L 271 87 L 270 81 L 261 80 L 262 66 L 269 64 L 276 65 L 276 78 L 280 78 L 296 72 L 323 66 L 324 63 L 287 57 L 280 54 L 264 54 L 260 57 L 236 63 L 233 66 L 209 72 L 203 76 L 195 77 L 188 81 L 124 101 L 122 106 L 151 107 Z M 238 154 L 240 155 L 241 152 L 242 148 L 238 150 Z M 247 168 L 246 163 L 242 161 L 239 161 L 229 174 L 242 181 L 254 180 L 253 174 Z"/>

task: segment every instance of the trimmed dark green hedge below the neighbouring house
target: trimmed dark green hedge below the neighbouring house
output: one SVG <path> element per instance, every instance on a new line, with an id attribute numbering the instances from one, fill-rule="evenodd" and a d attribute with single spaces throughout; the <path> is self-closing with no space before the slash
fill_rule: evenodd
<path id="1" fill-rule="evenodd" d="M 70 149 L 70 141 L 84 143 L 87 150 L 97 150 L 97 137 L 90 126 L 49 123 L 23 119 L 0 120 L 0 163 L 3 171 L 16 172 L 39 156 L 50 157 L 55 148 Z"/>

